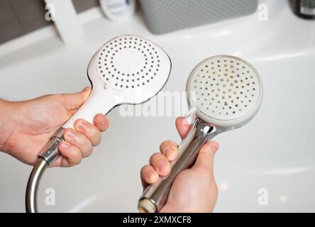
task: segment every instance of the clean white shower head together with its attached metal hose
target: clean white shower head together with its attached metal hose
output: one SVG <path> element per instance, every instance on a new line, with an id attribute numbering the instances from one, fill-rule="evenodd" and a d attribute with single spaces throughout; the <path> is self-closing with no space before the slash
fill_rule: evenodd
<path id="1" fill-rule="evenodd" d="M 60 155 L 58 144 L 63 140 L 65 128 L 74 128 L 79 118 L 93 123 L 96 114 L 107 114 L 121 104 L 148 101 L 164 87 L 170 70 L 167 53 L 145 38 L 120 35 L 105 43 L 89 62 L 87 74 L 92 84 L 89 98 L 52 136 L 31 172 L 26 189 L 26 211 L 37 211 L 38 182 L 45 167 Z"/>

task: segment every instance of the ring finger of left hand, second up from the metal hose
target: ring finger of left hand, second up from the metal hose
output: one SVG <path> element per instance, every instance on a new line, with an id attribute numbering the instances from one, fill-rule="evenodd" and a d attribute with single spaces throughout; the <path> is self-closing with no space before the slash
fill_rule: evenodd
<path id="1" fill-rule="evenodd" d="M 81 150 L 82 157 L 89 157 L 89 155 L 92 154 L 92 143 L 82 133 L 74 131 L 72 128 L 67 128 L 64 133 L 64 138 L 68 143 L 71 143 Z"/>

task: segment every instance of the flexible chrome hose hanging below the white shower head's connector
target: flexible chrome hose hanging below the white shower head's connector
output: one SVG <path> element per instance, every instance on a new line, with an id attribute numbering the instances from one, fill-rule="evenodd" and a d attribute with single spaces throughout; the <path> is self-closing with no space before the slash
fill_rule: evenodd
<path id="1" fill-rule="evenodd" d="M 38 158 L 37 163 L 33 167 L 30 177 L 28 178 L 28 185 L 26 187 L 26 212 L 37 213 L 37 192 L 40 179 L 43 176 L 48 162 L 42 157 Z"/>

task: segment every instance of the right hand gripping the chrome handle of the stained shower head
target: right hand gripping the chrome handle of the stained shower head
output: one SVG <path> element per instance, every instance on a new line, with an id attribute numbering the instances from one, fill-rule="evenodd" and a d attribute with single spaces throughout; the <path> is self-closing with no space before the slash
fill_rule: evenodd
<path id="1" fill-rule="evenodd" d="M 181 138 L 187 135 L 190 125 L 179 117 L 176 119 L 177 131 Z M 167 213 L 189 213 L 189 212 L 211 212 L 216 204 L 218 188 L 214 181 L 214 154 L 219 149 L 219 144 L 211 141 L 206 143 L 197 157 L 194 165 L 177 175 L 170 189 L 165 206 L 160 212 Z M 170 161 L 175 160 L 178 155 L 177 144 L 170 140 L 160 145 L 160 153 L 150 157 L 150 165 L 145 165 L 140 176 L 143 187 L 157 182 L 159 177 L 170 174 Z"/>

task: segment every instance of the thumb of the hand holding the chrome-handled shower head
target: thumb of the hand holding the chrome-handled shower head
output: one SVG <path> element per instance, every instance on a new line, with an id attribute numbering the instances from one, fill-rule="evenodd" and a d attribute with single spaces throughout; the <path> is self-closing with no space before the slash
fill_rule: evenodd
<path id="1" fill-rule="evenodd" d="M 218 149 L 219 144 L 215 141 L 203 145 L 192 169 L 206 171 L 212 175 L 214 171 L 214 154 Z"/>

